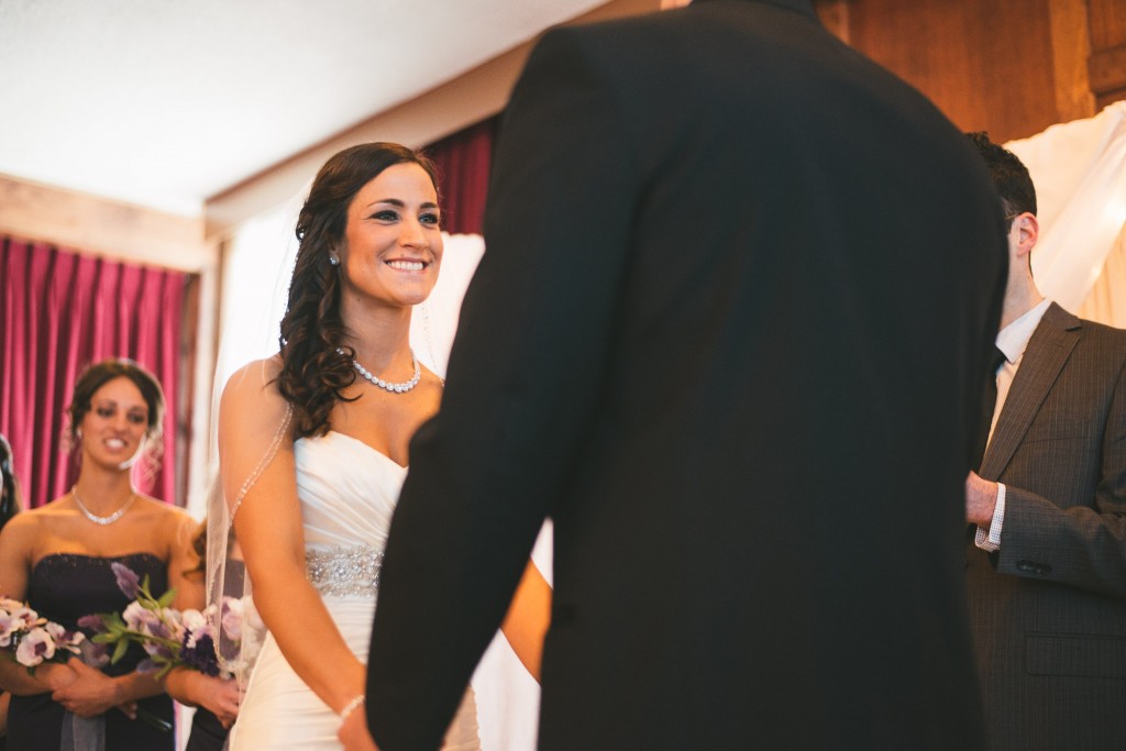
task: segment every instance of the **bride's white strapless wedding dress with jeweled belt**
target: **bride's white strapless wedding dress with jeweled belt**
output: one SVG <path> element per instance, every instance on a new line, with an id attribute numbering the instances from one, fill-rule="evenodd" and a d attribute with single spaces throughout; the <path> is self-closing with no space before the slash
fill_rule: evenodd
<path id="1" fill-rule="evenodd" d="M 331 431 L 298 439 L 294 456 L 310 580 L 348 646 L 367 662 L 383 546 L 406 468 L 360 440 Z M 309 638 L 315 643 L 318 636 Z M 340 749 L 339 726 L 340 718 L 297 677 L 268 635 L 230 749 Z M 472 689 L 466 690 L 443 749 L 481 749 Z"/>

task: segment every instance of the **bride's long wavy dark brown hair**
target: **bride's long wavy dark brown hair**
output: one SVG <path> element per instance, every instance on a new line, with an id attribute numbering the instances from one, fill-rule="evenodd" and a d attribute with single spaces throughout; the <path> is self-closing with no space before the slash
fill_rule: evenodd
<path id="1" fill-rule="evenodd" d="M 343 241 L 348 206 L 360 188 L 393 164 L 413 163 L 438 189 L 434 162 L 397 143 L 365 143 L 339 152 L 313 180 L 297 217 L 297 260 L 282 319 L 282 372 L 277 386 L 293 406 L 294 438 L 328 432 L 329 412 L 356 381 L 340 318 L 341 267 L 329 254 Z M 345 350 L 343 355 L 337 348 Z"/>

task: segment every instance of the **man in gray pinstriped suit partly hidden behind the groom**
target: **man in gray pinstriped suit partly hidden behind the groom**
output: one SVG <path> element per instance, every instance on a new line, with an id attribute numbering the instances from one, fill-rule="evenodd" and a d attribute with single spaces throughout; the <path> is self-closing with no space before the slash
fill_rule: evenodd
<path id="1" fill-rule="evenodd" d="M 1010 221 L 993 428 L 966 480 L 991 748 L 1126 749 L 1126 331 L 1044 298 L 1028 170 L 971 140 Z"/>

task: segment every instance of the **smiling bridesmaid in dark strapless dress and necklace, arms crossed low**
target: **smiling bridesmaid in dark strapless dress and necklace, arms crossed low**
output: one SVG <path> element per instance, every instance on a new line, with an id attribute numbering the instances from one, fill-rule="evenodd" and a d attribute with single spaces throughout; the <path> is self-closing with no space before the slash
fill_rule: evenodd
<path id="1" fill-rule="evenodd" d="M 69 409 L 78 482 L 46 506 L 17 515 L 0 533 L 0 591 L 68 628 L 83 615 L 128 604 L 111 563 L 148 575 L 157 596 L 169 587 L 185 591 L 195 521 L 138 493 L 132 482 L 137 459 L 146 453 L 154 458 L 160 446 L 163 411 L 160 384 L 132 360 L 102 360 L 79 376 Z M 10 748 L 57 749 L 82 727 L 104 733 L 106 749 L 171 751 L 175 733 L 137 719 L 143 708 L 146 717 L 172 721 L 163 685 L 135 669 L 143 656 L 136 649 L 101 669 L 72 659 L 39 665 L 34 676 L 0 661 L 0 688 L 12 694 Z"/>

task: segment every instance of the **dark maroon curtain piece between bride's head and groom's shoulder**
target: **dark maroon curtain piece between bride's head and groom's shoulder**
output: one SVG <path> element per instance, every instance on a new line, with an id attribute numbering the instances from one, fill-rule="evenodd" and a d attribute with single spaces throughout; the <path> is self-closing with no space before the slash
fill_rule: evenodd
<path id="1" fill-rule="evenodd" d="M 438 167 L 441 224 L 450 234 L 481 234 L 499 120 L 482 120 L 423 150 Z"/>

